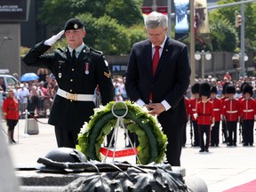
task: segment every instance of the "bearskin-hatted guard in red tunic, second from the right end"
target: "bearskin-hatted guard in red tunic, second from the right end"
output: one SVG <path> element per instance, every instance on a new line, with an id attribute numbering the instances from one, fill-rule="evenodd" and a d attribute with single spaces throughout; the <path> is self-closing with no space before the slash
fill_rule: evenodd
<path id="1" fill-rule="evenodd" d="M 226 86 L 228 99 L 223 103 L 223 114 L 228 128 L 228 146 L 236 146 L 237 121 L 239 120 L 239 101 L 234 98 L 236 87 L 233 84 Z"/>

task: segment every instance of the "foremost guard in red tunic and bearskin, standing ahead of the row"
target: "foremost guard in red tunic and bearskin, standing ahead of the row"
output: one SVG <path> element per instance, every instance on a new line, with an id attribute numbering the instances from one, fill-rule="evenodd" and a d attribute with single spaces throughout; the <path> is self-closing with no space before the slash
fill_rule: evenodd
<path id="1" fill-rule="evenodd" d="M 206 82 L 200 84 L 199 94 L 201 100 L 197 103 L 196 106 L 197 125 L 199 130 L 201 148 L 199 152 L 209 152 L 211 125 L 214 124 L 213 104 L 210 100 L 208 100 L 208 98 L 210 97 L 210 89 L 210 84 Z M 206 136 L 205 143 L 204 133 Z"/>

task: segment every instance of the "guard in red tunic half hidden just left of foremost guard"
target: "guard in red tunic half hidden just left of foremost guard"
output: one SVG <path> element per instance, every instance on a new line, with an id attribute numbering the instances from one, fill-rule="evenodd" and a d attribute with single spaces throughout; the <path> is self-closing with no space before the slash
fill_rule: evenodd
<path id="1" fill-rule="evenodd" d="M 196 104 L 199 100 L 199 83 L 193 84 L 191 87 L 191 92 L 193 94 L 193 97 L 189 100 L 189 115 L 190 115 L 190 124 L 192 122 L 193 124 L 193 131 L 194 131 L 194 147 L 199 146 L 199 132 L 198 132 L 198 126 L 197 126 L 197 120 L 194 116 L 196 114 Z"/>

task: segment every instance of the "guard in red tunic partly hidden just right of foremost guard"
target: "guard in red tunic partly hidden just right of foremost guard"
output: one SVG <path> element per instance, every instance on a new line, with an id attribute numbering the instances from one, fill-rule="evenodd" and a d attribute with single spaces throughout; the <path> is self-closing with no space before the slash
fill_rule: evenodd
<path id="1" fill-rule="evenodd" d="M 212 85 L 210 100 L 212 101 L 212 104 L 213 104 L 215 124 L 212 126 L 212 131 L 211 131 L 211 146 L 219 147 L 220 119 L 222 119 L 222 115 L 223 115 L 223 104 L 220 98 L 217 98 L 216 95 L 217 95 L 217 88 L 215 85 Z"/>

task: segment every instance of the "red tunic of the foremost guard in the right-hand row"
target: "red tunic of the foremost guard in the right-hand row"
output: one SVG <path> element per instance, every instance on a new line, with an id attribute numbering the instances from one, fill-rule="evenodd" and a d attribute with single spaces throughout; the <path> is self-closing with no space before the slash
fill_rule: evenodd
<path id="1" fill-rule="evenodd" d="M 212 117 L 214 117 L 213 104 L 210 100 L 202 102 L 200 100 L 196 107 L 197 124 L 210 125 L 212 124 Z"/>

